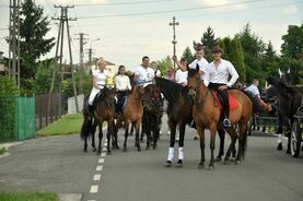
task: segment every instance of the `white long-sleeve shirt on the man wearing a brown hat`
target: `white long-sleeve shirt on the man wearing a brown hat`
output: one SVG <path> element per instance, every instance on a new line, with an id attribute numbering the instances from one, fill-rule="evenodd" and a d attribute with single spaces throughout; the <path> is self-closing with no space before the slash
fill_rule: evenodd
<path id="1" fill-rule="evenodd" d="M 238 74 L 234 66 L 230 61 L 224 59 L 221 59 L 218 67 L 215 67 L 213 62 L 209 63 L 209 67 L 206 72 L 207 73 L 205 75 L 205 79 L 207 83 L 211 82 L 226 84 L 229 87 L 231 87 L 235 84 L 236 80 L 238 79 Z M 230 75 L 232 78 L 229 81 Z"/>

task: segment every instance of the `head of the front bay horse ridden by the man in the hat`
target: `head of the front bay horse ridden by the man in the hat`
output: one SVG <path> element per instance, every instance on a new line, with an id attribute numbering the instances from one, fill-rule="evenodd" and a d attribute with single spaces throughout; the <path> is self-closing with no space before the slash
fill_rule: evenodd
<path id="1" fill-rule="evenodd" d="M 200 85 L 201 85 L 201 79 L 200 79 L 199 68 L 189 69 L 188 76 L 187 76 L 187 87 L 189 90 L 188 96 L 191 103 L 194 103 L 194 99 L 196 98 L 196 94 Z"/>

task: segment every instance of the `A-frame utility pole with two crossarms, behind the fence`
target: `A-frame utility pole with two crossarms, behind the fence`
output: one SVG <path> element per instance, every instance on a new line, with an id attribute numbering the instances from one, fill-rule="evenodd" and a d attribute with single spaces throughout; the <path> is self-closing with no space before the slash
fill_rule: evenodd
<path id="1" fill-rule="evenodd" d="M 53 92 L 54 90 L 54 84 L 55 84 L 55 79 L 56 79 L 56 70 L 57 70 L 57 58 L 58 58 L 58 51 L 60 48 L 60 56 L 59 56 L 59 79 L 58 79 L 58 83 L 59 83 L 59 93 L 61 96 L 61 91 L 62 91 L 62 85 L 61 82 L 63 80 L 62 76 L 62 58 L 63 58 L 63 42 L 65 42 L 65 23 L 67 24 L 67 34 L 68 34 L 68 46 L 69 46 L 69 57 L 70 57 L 70 69 L 71 69 L 71 79 L 72 79 L 72 84 L 73 84 L 73 95 L 74 95 L 74 103 L 75 103 L 75 110 L 77 113 L 79 113 L 79 104 L 78 104 L 78 98 L 77 98 L 77 88 L 75 88 L 75 81 L 74 81 L 74 72 L 73 72 L 73 63 L 72 63 L 72 54 L 71 54 L 71 37 L 70 37 L 70 32 L 69 32 L 69 21 L 75 21 L 77 19 L 70 19 L 68 17 L 68 9 L 70 8 L 74 8 L 74 5 L 54 5 L 55 8 L 60 8 L 61 9 L 61 16 L 60 17 L 51 17 L 53 20 L 59 20 L 59 32 L 58 32 L 58 38 L 57 38 L 57 47 L 56 47 L 56 56 L 55 56 L 55 67 L 54 67 L 54 71 L 53 71 L 53 80 L 51 80 L 51 86 L 50 86 L 50 91 L 49 93 Z M 50 104 L 49 104 L 50 105 Z M 61 111 L 61 97 L 59 98 L 59 115 L 61 116 L 62 111 Z"/>

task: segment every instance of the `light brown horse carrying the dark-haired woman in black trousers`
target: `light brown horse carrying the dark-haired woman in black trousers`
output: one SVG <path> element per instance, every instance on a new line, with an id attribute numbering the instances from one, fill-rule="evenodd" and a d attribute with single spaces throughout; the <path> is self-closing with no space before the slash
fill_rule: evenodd
<path id="1" fill-rule="evenodd" d="M 124 151 L 127 151 L 127 138 L 128 138 L 128 130 L 129 125 L 131 122 L 136 123 L 136 143 L 138 151 L 141 151 L 140 142 L 139 142 L 139 129 L 141 125 L 141 119 L 143 116 L 143 104 L 142 104 L 142 96 L 144 94 L 144 88 L 141 86 L 133 86 L 131 90 L 131 94 L 127 97 L 126 106 L 123 109 L 123 115 L 117 119 L 117 123 L 115 127 L 114 132 L 114 144 L 118 147 L 118 139 L 117 132 L 118 129 L 123 126 L 125 127 L 125 141 L 124 141 Z"/>

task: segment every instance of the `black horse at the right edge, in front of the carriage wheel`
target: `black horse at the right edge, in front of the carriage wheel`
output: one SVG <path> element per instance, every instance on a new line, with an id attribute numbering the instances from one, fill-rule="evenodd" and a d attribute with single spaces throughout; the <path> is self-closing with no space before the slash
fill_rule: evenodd
<path id="1" fill-rule="evenodd" d="M 302 86 L 292 86 L 287 85 L 282 80 L 275 79 L 269 76 L 267 79 L 268 83 L 273 85 L 278 91 L 278 99 L 279 99 L 279 117 L 281 120 L 281 125 L 285 128 L 285 135 L 288 137 L 288 149 L 287 153 L 291 154 L 290 143 L 291 143 L 291 125 L 294 122 L 294 114 L 298 108 L 301 106 L 301 97 L 303 96 L 303 87 Z M 282 150 L 282 140 L 281 134 L 278 138 L 278 146 L 277 150 Z"/>

